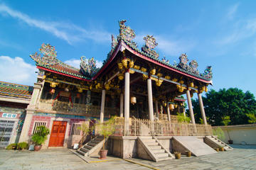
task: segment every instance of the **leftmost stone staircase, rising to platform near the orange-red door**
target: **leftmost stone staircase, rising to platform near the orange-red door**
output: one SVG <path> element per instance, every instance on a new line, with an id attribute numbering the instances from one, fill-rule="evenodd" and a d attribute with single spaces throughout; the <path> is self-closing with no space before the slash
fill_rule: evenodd
<path id="1" fill-rule="evenodd" d="M 104 142 L 105 140 L 103 136 L 97 136 L 90 140 L 89 142 L 87 142 L 82 147 L 80 147 L 80 149 L 78 149 L 76 152 L 82 154 L 82 156 L 89 157 L 91 154 L 99 152 L 100 149 L 103 147 Z"/>

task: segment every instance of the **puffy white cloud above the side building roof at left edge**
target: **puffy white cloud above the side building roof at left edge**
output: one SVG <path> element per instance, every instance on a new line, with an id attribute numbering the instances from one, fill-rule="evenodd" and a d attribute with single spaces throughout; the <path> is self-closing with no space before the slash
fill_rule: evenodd
<path id="1" fill-rule="evenodd" d="M 0 81 L 33 86 L 36 82 L 36 66 L 21 57 L 0 56 Z"/>

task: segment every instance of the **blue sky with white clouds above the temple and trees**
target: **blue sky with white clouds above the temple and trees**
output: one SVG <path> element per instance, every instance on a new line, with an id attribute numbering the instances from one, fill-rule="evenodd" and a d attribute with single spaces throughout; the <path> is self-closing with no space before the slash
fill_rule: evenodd
<path id="1" fill-rule="evenodd" d="M 33 85 L 29 57 L 43 42 L 58 59 L 79 67 L 80 57 L 100 65 L 110 51 L 117 21 L 135 30 L 135 41 L 154 35 L 160 58 L 178 62 L 181 53 L 213 67 L 213 88 L 238 87 L 256 95 L 256 1 L 2 1 L 0 81 Z"/>

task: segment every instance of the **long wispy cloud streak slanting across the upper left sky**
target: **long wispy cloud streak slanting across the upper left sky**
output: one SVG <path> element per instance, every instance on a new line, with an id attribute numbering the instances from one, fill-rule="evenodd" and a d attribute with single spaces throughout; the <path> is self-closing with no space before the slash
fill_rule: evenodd
<path id="1" fill-rule="evenodd" d="M 20 11 L 15 11 L 5 4 L 0 4 L 0 13 L 3 16 L 9 15 L 13 18 L 18 18 L 19 20 L 28 24 L 28 26 L 33 26 L 52 33 L 56 37 L 67 41 L 69 44 L 77 42 L 80 40 L 95 40 L 96 42 L 110 41 L 110 33 L 105 30 L 85 30 L 85 28 L 80 28 L 75 26 L 73 23 L 63 23 L 63 22 L 52 22 L 52 21 L 41 21 Z"/>

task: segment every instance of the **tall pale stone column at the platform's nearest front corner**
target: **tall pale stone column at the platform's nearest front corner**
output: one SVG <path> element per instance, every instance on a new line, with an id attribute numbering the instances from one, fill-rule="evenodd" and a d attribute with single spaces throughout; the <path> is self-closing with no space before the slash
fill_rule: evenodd
<path id="1" fill-rule="evenodd" d="M 124 74 L 124 135 L 129 130 L 129 72 Z"/>

